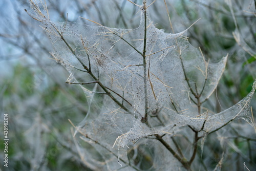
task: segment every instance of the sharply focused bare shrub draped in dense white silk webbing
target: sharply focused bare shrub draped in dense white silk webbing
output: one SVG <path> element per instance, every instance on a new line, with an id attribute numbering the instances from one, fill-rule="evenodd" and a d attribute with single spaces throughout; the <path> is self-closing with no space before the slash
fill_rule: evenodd
<path id="1" fill-rule="evenodd" d="M 239 118 L 254 126 L 249 105 L 256 85 L 223 112 L 207 109 L 203 104 L 216 90 L 227 56 L 216 63 L 206 59 L 189 44 L 187 29 L 164 33 L 148 8 L 141 5 L 137 29 L 52 22 L 46 4 L 33 1 L 29 14 L 46 25 L 51 55 L 70 73 L 67 83 L 79 84 L 87 96 L 87 115 L 74 125 L 84 164 L 94 170 L 192 170 L 199 167 L 196 159 L 211 168 L 203 164 L 209 150 L 204 144 L 211 138 L 223 142 L 212 134 L 224 126 L 239 134 L 244 123 L 231 125 Z"/>

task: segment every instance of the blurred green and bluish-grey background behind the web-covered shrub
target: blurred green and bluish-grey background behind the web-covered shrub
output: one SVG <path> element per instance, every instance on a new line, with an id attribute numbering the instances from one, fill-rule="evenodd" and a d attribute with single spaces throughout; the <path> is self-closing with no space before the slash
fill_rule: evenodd
<path id="1" fill-rule="evenodd" d="M 133 2 L 142 4 L 141 0 Z M 82 16 L 113 28 L 133 29 L 140 24 L 139 8 L 126 0 L 46 3 L 51 20 L 56 22 L 95 25 L 79 19 Z M 40 27 L 44 26 L 24 10 L 29 10 L 29 1 L 2 0 L 0 9 L 0 125 L 4 127 L 5 113 L 9 122 L 8 168 L 1 164 L 1 169 L 91 170 L 79 157 L 68 121 L 78 124 L 86 116 L 86 97 L 79 86 L 65 83 L 69 73 L 52 59 L 51 42 Z M 181 32 L 201 18 L 188 30 L 190 44 L 200 47 L 211 61 L 229 54 L 226 70 L 207 108 L 216 113 L 224 111 L 250 92 L 256 78 L 255 1 L 156 0 L 149 11 L 155 26 L 166 33 Z M 256 95 L 251 105 L 255 115 Z M 243 162 L 256 170 L 255 132 L 252 126 L 244 125 L 243 135 L 229 130 L 231 143 L 226 147 L 229 153 L 223 170 L 244 170 Z M 3 131 L 0 135 L 2 142 Z M 212 169 L 222 155 L 217 142 L 210 138 L 206 141 L 215 151 L 207 159 Z M 0 147 L 3 159 L 4 144 Z"/>

